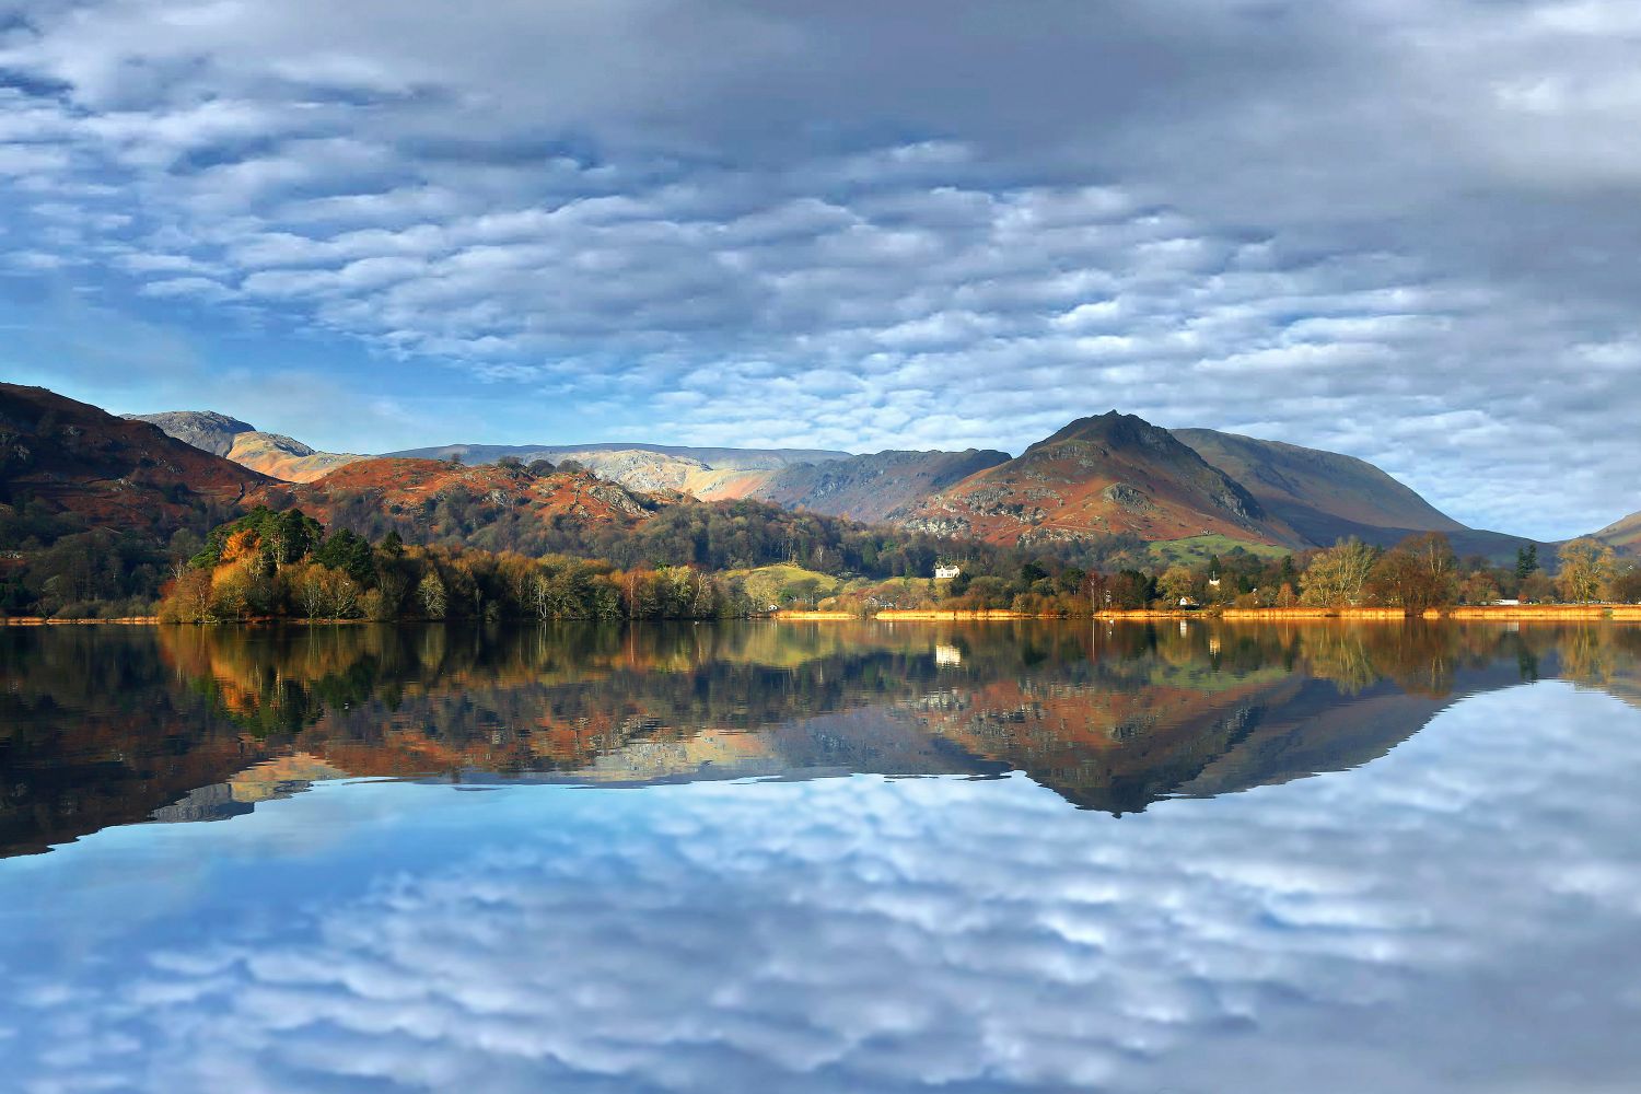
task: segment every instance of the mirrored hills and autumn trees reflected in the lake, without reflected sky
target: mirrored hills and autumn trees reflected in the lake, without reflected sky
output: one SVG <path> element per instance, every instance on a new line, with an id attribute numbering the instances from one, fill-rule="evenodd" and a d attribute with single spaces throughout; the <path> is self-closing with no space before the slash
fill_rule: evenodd
<path id="1" fill-rule="evenodd" d="M 1021 771 L 1132 814 L 1369 763 L 1465 694 L 1641 697 L 1623 627 L 31 628 L 0 651 L 0 855 L 350 776 Z"/>

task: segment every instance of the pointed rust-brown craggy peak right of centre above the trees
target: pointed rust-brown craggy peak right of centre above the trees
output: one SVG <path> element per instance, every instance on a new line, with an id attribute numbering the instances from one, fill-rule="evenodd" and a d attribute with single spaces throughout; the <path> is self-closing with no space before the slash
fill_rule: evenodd
<path id="1" fill-rule="evenodd" d="M 904 523 L 999 545 L 1127 533 L 1144 540 L 1223 535 L 1300 546 L 1234 479 L 1172 433 L 1116 410 L 1078 418 L 1019 458 L 930 497 Z"/>

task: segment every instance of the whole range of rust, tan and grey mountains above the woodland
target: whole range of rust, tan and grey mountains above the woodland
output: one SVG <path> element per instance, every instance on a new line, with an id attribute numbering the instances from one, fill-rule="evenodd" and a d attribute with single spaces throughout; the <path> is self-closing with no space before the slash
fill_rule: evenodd
<path id="1" fill-rule="evenodd" d="M 11 400 L 0 402 L 0 428 L 39 417 L 46 402 L 57 400 L 75 408 L 57 407 L 56 413 L 72 418 L 82 435 L 118 441 L 138 464 L 148 459 L 176 469 L 172 474 L 202 497 L 290 500 L 317 513 L 336 510 L 345 499 L 354 512 L 376 505 L 394 520 L 409 520 L 407 513 L 459 495 L 478 499 L 478 508 L 497 520 L 630 523 L 679 500 L 750 499 L 1027 548 L 1126 535 L 1204 549 L 1306 549 L 1344 536 L 1388 546 L 1419 531 L 1441 531 L 1460 554 L 1505 559 L 1528 541 L 1469 528 L 1352 456 L 1216 430 L 1170 431 L 1116 410 L 1078 418 L 1012 458 L 996 449 L 850 454 L 633 441 L 445 444 L 361 456 L 317 451 L 217 412 L 120 420 L 41 389 L 0 387 Z M 8 413 L 20 400 L 33 410 Z M 0 443 L 7 438 L 0 433 Z M 53 453 L 48 463 L 67 459 L 69 440 L 57 436 L 41 448 Z M 507 456 L 514 459 L 497 463 Z M 535 461 L 555 469 L 519 467 Z M 8 477 L 20 467 L 16 459 L 0 464 Z M 98 499 L 92 508 L 103 515 L 141 512 L 141 484 L 156 476 L 135 474 L 135 464 L 125 467 L 133 474 L 113 471 L 120 469 L 87 466 L 66 477 L 43 477 L 43 467 L 34 466 L 28 474 L 34 477 L 31 489 L 46 495 L 67 482 L 100 484 L 92 490 Z M 121 479 L 130 485 L 110 485 Z M 23 484 L 15 479 L 7 489 L 16 494 Z M 117 505 L 120 499 L 126 504 Z M 466 513 L 464 520 L 481 517 Z M 1641 513 L 1597 535 L 1620 551 L 1641 553 Z"/>

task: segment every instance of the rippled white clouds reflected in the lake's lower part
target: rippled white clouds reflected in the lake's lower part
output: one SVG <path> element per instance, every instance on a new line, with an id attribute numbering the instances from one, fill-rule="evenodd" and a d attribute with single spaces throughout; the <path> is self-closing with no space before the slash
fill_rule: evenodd
<path id="1" fill-rule="evenodd" d="M 1566 684 L 1472 697 L 1367 769 L 1121 822 L 1021 777 L 515 787 L 422 863 L 450 791 L 325 787 L 189 835 L 386 833 L 363 894 L 164 943 L 87 907 L 49 982 L 23 938 L 10 1081 L 1618 1089 L 1634 725 Z"/>

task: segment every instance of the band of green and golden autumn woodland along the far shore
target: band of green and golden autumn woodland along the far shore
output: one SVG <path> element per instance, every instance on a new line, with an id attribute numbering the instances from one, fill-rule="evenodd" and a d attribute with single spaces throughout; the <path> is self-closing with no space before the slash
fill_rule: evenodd
<path id="1" fill-rule="evenodd" d="M 476 525 L 461 500 L 402 520 L 341 504 L 226 518 L 195 507 L 162 538 L 85 526 L 41 505 L 0 507 L 0 612 L 59 618 L 717 618 L 773 607 L 1095 610 L 1403 607 L 1641 600 L 1641 568 L 1593 540 L 1513 566 L 1457 558 L 1439 533 L 1383 549 L 1357 540 L 1272 556 L 1232 548 L 1159 564 L 1132 536 L 1057 549 L 940 540 L 761 502 L 688 502 L 635 525 Z M 410 536 L 404 535 L 405 531 Z M 420 540 L 412 540 L 420 536 Z M 487 543 L 489 548 L 476 546 Z M 937 563 L 960 574 L 934 581 Z M 776 595 L 747 571 L 798 574 Z"/>

